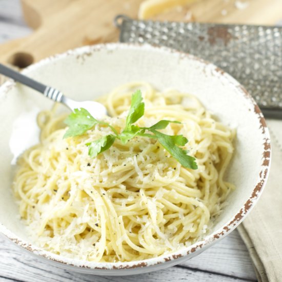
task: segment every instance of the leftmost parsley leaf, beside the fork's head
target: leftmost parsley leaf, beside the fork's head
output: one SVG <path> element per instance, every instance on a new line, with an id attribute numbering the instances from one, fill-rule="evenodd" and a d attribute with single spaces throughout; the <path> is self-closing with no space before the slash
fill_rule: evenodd
<path id="1" fill-rule="evenodd" d="M 69 129 L 63 138 L 82 135 L 97 123 L 98 120 L 94 118 L 86 109 L 74 109 L 65 120 L 65 124 L 69 126 Z"/>

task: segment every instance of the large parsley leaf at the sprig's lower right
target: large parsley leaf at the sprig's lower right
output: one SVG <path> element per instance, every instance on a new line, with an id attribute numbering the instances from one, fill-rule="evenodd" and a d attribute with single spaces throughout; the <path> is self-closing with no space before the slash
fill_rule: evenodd
<path id="1" fill-rule="evenodd" d="M 182 135 L 171 136 L 164 133 L 160 133 L 156 130 L 152 132 L 157 136 L 158 142 L 185 168 L 197 169 L 198 166 L 195 162 L 195 158 L 187 155 L 187 151 L 179 148 L 176 144 L 184 144 L 187 140 Z M 180 136 L 180 137 L 179 137 Z M 176 138 L 177 137 L 177 138 Z M 186 140 L 185 140 L 186 139 Z M 175 143 L 175 141 L 177 143 Z M 187 140 L 188 141 L 188 140 Z M 187 143 L 187 142 L 186 142 Z M 186 144 L 185 143 L 185 144 Z M 184 144 L 184 145 L 185 145 Z M 183 146 L 183 145 L 181 145 Z"/>

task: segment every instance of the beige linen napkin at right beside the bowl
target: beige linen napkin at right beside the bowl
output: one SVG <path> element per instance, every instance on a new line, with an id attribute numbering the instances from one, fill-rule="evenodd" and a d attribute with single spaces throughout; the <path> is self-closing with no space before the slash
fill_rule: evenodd
<path id="1" fill-rule="evenodd" d="M 282 121 L 267 120 L 271 169 L 258 203 L 238 227 L 252 258 L 258 281 L 282 281 Z"/>

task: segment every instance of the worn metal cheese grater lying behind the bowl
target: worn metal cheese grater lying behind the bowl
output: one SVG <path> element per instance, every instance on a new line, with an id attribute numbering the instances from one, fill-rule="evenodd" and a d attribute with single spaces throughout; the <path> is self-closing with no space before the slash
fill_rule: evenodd
<path id="1" fill-rule="evenodd" d="M 282 27 L 115 18 L 120 42 L 163 45 L 202 57 L 246 87 L 269 117 L 282 118 Z"/>

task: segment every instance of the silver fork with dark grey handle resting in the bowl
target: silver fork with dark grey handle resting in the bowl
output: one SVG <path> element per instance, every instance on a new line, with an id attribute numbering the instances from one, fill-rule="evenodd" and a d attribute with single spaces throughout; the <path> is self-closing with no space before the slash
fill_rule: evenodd
<path id="1" fill-rule="evenodd" d="M 64 104 L 72 111 L 76 108 L 85 108 L 92 116 L 96 118 L 107 114 L 107 109 L 100 103 L 94 101 L 77 102 L 71 98 L 66 97 L 61 91 L 39 83 L 34 79 L 25 76 L 17 71 L 14 71 L 13 69 L 8 68 L 2 64 L 0 64 L 0 74 L 10 77 L 17 82 L 42 93 L 45 97 L 54 100 L 55 102 Z"/>

